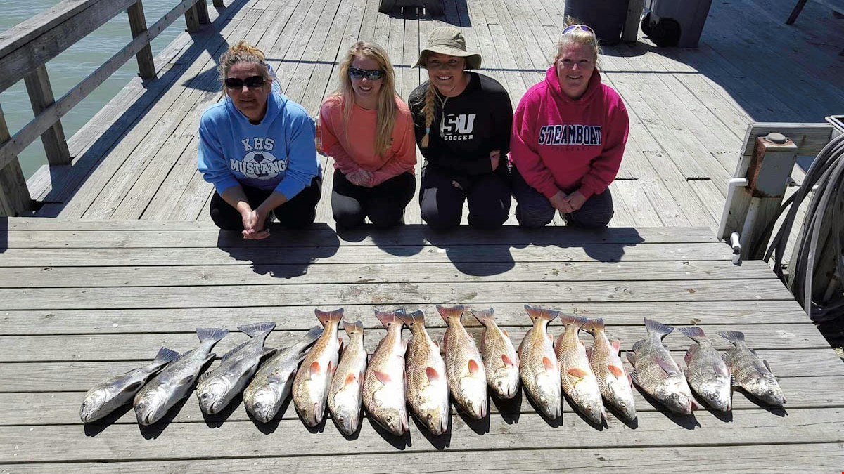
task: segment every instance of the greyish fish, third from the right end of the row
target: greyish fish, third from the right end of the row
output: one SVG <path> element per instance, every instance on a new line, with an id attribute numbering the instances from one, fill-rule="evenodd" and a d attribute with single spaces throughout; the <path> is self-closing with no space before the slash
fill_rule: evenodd
<path id="1" fill-rule="evenodd" d="M 647 339 L 640 339 L 627 353 L 633 364 L 630 377 L 641 390 L 657 399 L 672 412 L 689 415 L 697 407 L 691 396 L 689 383 L 668 348 L 663 346 L 663 337 L 674 331 L 655 320 L 645 318 Z"/>

